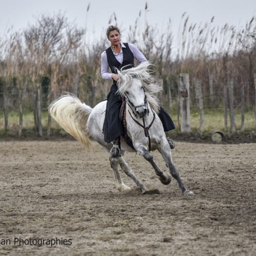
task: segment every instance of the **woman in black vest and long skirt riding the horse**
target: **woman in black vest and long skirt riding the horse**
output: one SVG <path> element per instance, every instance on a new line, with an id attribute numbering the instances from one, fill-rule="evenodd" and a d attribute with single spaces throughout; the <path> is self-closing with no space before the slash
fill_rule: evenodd
<path id="1" fill-rule="evenodd" d="M 119 119 L 122 99 L 120 99 L 119 95 L 116 93 L 118 90 L 117 81 L 119 79 L 116 70 L 134 67 L 134 58 L 138 61 L 139 65 L 146 62 L 147 59 L 134 44 L 121 43 L 118 27 L 109 26 L 106 34 L 111 46 L 102 52 L 101 74 L 103 79 L 113 79 L 113 85 L 107 96 L 108 102 L 103 131 L 105 142 L 113 142 L 110 156 L 116 158 L 121 156 L 120 136 L 122 136 L 124 131 L 122 121 Z M 109 68 L 111 73 L 109 72 Z M 163 108 L 160 108 L 158 116 L 160 117 L 165 132 L 175 129 L 171 117 Z M 174 148 L 175 144 L 171 139 L 168 139 L 168 143 L 171 148 Z"/>

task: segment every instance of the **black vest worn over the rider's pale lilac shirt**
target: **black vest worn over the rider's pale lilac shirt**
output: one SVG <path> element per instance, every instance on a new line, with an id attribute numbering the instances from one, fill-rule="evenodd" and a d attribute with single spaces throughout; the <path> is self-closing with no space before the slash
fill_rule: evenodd
<path id="1" fill-rule="evenodd" d="M 122 52 L 123 52 L 122 64 L 119 61 L 117 61 L 111 47 L 106 49 L 108 65 L 112 73 L 116 74 L 116 69 L 121 70 L 122 67 L 124 67 L 123 69 L 129 69 L 131 67 L 134 67 L 134 55 L 131 52 L 131 49 L 129 48 L 128 43 L 124 43 L 124 45 L 125 47 L 122 47 Z"/>

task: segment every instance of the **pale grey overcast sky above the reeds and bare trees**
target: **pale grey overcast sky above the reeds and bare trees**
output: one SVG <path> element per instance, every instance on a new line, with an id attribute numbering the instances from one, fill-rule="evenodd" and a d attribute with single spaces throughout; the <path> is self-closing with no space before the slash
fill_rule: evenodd
<path id="1" fill-rule="evenodd" d="M 145 13 L 146 2 L 148 12 Z M 156 25 L 160 32 L 164 32 L 166 23 L 171 19 L 174 34 L 178 31 L 184 12 L 189 15 L 190 23 L 209 22 L 215 16 L 216 26 L 225 23 L 245 26 L 256 16 L 255 0 L 0 0 L 0 3 L 0 36 L 6 34 L 11 26 L 12 31 L 26 28 L 41 13 L 54 14 L 59 11 L 78 26 L 86 25 L 87 36 L 92 39 L 104 35 L 113 12 L 123 34 L 130 25 L 134 25 L 140 11 L 140 26 L 145 26 L 146 15 L 150 25 Z"/>

